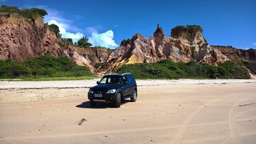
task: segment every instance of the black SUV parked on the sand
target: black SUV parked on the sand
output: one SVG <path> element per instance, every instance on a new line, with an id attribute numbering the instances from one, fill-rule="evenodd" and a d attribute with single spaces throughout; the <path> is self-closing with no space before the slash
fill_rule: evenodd
<path id="1" fill-rule="evenodd" d="M 137 99 L 137 84 L 131 73 L 106 74 L 97 84 L 88 91 L 91 106 L 95 106 L 96 102 L 113 102 L 119 108 L 126 98 L 131 98 L 132 102 Z"/>

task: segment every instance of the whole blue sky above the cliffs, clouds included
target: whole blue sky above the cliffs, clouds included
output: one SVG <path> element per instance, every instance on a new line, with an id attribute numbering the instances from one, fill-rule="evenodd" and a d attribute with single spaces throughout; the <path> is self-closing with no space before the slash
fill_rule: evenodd
<path id="1" fill-rule="evenodd" d="M 157 23 L 166 36 L 176 25 L 204 28 L 210 45 L 256 48 L 256 0 L 0 0 L 19 8 L 43 8 L 65 30 L 64 36 L 85 35 L 94 45 L 117 47 L 136 33 L 153 35 Z M 62 34 L 63 35 L 63 34 Z"/>

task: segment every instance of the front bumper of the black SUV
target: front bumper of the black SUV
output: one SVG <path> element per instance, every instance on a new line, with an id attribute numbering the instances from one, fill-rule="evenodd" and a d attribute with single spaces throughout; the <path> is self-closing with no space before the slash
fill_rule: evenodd
<path id="1" fill-rule="evenodd" d="M 110 102 L 116 100 L 116 94 L 102 94 L 102 97 L 94 97 L 94 93 L 88 93 L 88 99 L 94 102 Z"/>

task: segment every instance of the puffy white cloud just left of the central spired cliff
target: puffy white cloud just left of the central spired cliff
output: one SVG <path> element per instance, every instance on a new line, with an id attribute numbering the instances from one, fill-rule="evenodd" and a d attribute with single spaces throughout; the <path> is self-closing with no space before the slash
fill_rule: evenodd
<path id="1" fill-rule="evenodd" d="M 102 46 L 106 48 L 117 48 L 118 44 L 113 40 L 114 32 L 108 30 L 107 32 L 98 34 L 97 32 L 92 32 L 91 37 L 89 37 L 89 42 L 92 46 Z"/>

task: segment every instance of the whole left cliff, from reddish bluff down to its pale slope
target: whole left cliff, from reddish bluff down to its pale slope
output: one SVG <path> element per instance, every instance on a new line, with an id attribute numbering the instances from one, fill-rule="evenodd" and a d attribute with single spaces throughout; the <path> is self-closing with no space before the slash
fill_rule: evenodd
<path id="1" fill-rule="evenodd" d="M 64 46 L 60 47 L 60 43 Z M 94 72 L 95 63 L 104 62 L 111 52 L 106 48 L 79 48 L 61 42 L 41 17 L 31 20 L 19 14 L 0 13 L 0 60 L 22 62 L 42 55 L 66 56 Z"/>

